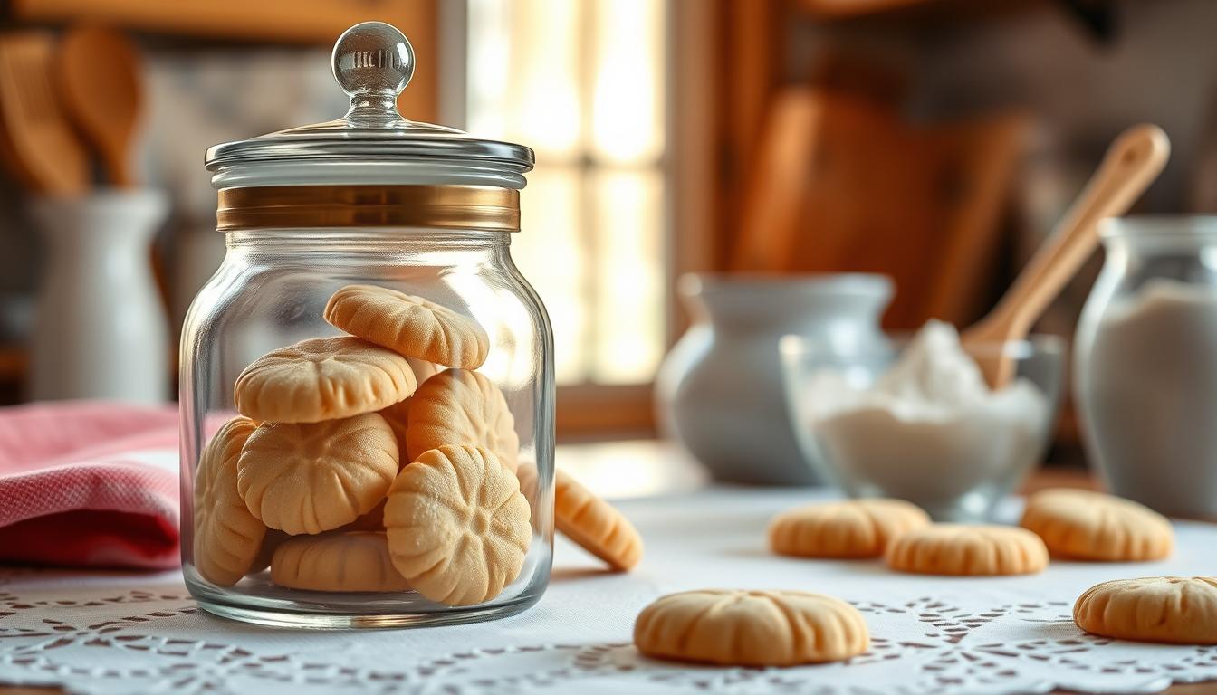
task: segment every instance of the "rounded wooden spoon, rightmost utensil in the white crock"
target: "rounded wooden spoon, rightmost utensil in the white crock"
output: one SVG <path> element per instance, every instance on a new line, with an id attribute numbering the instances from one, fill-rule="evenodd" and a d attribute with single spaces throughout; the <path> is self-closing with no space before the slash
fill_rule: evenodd
<path id="1" fill-rule="evenodd" d="M 135 46 L 118 32 L 77 27 L 63 37 L 56 67 L 68 117 L 100 156 L 106 181 L 134 186 L 131 148 L 144 106 Z"/>

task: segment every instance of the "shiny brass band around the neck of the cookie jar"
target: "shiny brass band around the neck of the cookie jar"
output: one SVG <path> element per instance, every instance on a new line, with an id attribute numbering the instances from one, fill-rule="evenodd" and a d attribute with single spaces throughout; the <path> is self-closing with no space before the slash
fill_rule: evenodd
<path id="1" fill-rule="evenodd" d="M 215 222 L 219 231 L 324 226 L 520 231 L 520 191 L 428 185 L 223 189 Z"/>

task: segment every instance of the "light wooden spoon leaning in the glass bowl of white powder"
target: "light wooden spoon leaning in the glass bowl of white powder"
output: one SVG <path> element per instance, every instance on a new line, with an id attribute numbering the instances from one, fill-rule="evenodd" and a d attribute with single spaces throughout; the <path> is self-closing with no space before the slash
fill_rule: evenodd
<path id="1" fill-rule="evenodd" d="M 1036 251 L 997 307 L 965 330 L 964 346 L 1021 340 L 1073 278 L 1099 243 L 1099 220 L 1118 217 L 1149 187 L 1171 156 L 1171 141 L 1157 125 L 1142 124 L 1116 138 L 1056 229 Z M 1014 377 L 1014 360 L 1000 352 L 972 353 L 989 386 Z"/>

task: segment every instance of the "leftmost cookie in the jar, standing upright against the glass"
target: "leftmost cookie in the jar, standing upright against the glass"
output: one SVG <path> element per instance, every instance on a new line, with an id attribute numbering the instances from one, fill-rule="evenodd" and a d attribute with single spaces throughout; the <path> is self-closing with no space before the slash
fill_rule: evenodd
<path id="1" fill-rule="evenodd" d="M 203 447 L 195 472 L 194 565 L 219 587 L 231 587 L 252 571 L 267 533 L 236 484 L 241 447 L 256 427 L 247 417 L 225 422 Z"/>

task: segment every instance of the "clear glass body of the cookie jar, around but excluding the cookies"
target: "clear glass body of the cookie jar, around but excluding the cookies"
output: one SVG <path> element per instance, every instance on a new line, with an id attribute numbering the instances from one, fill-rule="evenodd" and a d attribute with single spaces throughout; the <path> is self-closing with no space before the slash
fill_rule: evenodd
<path id="1" fill-rule="evenodd" d="M 226 237 L 224 263 L 195 298 L 183 330 L 183 570 L 191 594 L 219 615 L 303 627 L 471 622 L 534 604 L 549 582 L 553 554 L 553 334 L 540 299 L 511 260 L 510 232 L 377 226 L 236 230 Z M 521 489 L 532 526 L 523 568 L 486 602 L 445 606 L 415 592 L 288 589 L 257 567 L 223 587 L 195 566 L 200 455 L 219 424 L 236 415 L 237 376 L 273 349 L 342 335 L 324 320 L 323 310 L 336 290 L 353 284 L 445 306 L 476 319 L 489 336 L 488 357 L 476 371 L 503 392 L 520 438 L 521 465 L 535 465 L 537 482 Z M 417 376 L 421 383 L 426 375 Z M 400 458 L 405 466 L 405 454 Z"/>

